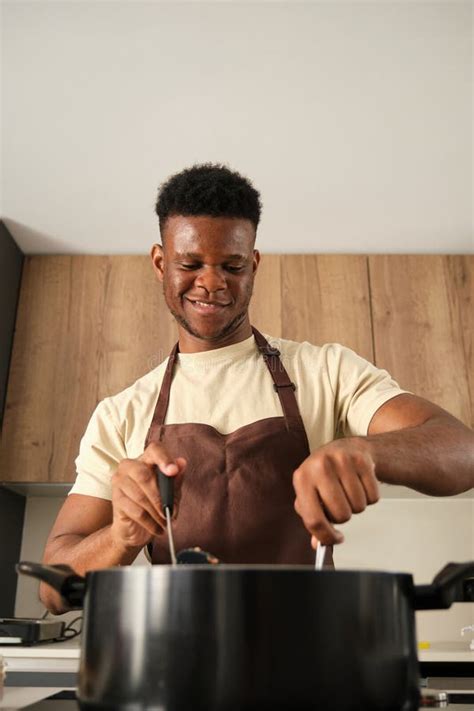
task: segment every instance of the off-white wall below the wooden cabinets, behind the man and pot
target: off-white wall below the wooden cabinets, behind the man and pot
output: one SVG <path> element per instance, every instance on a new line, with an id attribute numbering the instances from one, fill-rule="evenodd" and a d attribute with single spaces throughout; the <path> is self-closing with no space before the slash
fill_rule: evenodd
<path id="1" fill-rule="evenodd" d="M 62 501 L 27 499 L 22 560 L 41 560 Z M 416 583 L 428 583 L 446 563 L 474 560 L 473 499 L 381 499 L 340 528 L 346 540 L 334 552 L 338 569 L 407 572 Z M 148 565 L 143 554 L 135 564 Z M 37 589 L 34 580 L 19 579 L 17 616 L 39 617 L 44 612 Z M 65 619 L 73 615 L 68 613 Z M 416 617 L 419 640 L 459 642 L 468 648 L 468 639 L 461 637 L 460 630 L 474 624 L 474 603 L 418 612 Z"/>

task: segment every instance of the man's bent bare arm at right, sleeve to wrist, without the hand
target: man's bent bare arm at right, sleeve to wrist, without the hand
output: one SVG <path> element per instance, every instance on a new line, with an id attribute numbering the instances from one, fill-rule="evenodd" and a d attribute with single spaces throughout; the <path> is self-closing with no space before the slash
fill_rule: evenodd
<path id="1" fill-rule="evenodd" d="M 474 432 L 449 412 L 403 393 L 374 414 L 358 438 L 381 482 L 431 496 L 452 496 L 474 487 Z"/>

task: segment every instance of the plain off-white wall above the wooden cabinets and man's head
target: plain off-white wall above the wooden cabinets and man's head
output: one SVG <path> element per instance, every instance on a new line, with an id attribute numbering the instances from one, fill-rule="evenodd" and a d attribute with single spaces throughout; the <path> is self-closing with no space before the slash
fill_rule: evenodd
<path id="1" fill-rule="evenodd" d="M 221 161 L 264 252 L 473 250 L 472 3 L 3 2 L 2 214 L 27 253 L 147 253 Z"/>

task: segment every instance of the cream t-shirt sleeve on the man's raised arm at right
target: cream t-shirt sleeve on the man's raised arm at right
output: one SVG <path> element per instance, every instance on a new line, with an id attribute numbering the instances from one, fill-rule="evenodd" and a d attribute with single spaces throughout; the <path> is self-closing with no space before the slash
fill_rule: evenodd
<path id="1" fill-rule="evenodd" d="M 410 392 L 403 390 L 386 370 L 337 343 L 328 346 L 327 365 L 336 430 L 344 436 L 366 436 L 379 407 Z"/>

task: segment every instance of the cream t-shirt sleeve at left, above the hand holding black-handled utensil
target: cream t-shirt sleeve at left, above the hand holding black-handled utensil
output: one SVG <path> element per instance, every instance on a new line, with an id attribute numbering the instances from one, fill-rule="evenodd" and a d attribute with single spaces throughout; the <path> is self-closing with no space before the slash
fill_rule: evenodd
<path id="1" fill-rule="evenodd" d="M 123 437 L 107 398 L 92 413 L 76 457 L 76 481 L 70 494 L 112 499 L 111 477 L 127 457 Z"/>

